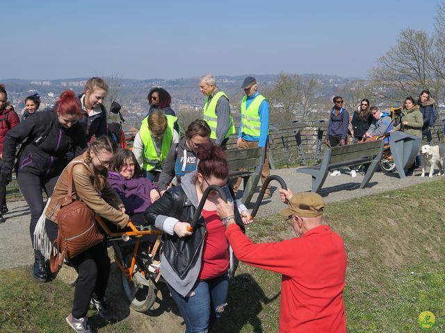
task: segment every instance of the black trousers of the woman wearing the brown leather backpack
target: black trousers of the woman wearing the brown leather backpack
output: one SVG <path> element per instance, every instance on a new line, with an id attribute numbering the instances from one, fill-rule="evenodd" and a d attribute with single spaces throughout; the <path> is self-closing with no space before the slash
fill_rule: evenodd
<path id="1" fill-rule="evenodd" d="M 57 224 L 47 219 L 45 230 L 51 243 L 54 243 L 58 233 Z M 102 241 L 76 255 L 76 257 L 70 259 L 70 264 L 79 273 L 71 311 L 74 318 L 79 319 L 86 316 L 93 293 L 98 300 L 102 300 L 105 296 L 108 277 L 110 276 L 110 258 L 106 252 L 105 243 Z"/>

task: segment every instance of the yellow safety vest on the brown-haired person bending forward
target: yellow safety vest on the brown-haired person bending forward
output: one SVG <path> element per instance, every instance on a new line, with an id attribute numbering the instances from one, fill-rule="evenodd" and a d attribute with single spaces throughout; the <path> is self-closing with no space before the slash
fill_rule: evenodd
<path id="1" fill-rule="evenodd" d="M 148 128 L 148 117 L 145 117 L 140 125 L 139 135 L 144 144 L 144 162 L 142 169 L 146 171 L 150 171 L 154 169 L 156 165 L 161 164 L 165 160 L 165 157 L 167 157 L 168 151 L 170 151 L 170 146 L 172 145 L 173 139 L 173 130 L 178 119 L 177 117 L 170 115 L 166 115 L 165 117 L 167 117 L 167 129 L 162 136 L 161 153 L 159 153 L 156 145 L 153 142 L 152 134 Z"/>

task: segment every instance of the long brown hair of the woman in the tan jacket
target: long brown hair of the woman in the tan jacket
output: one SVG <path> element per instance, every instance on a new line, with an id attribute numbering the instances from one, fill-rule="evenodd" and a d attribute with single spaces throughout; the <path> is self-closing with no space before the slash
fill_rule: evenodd
<path id="1" fill-rule="evenodd" d="M 84 159 L 85 162 L 88 165 L 90 165 L 90 168 L 92 169 L 92 176 L 94 176 L 92 186 L 96 189 L 96 191 L 102 191 L 102 189 L 104 189 L 106 184 L 106 178 L 108 178 L 108 171 L 107 169 L 97 170 L 92 165 L 92 157 L 90 155 L 90 152 L 93 151 L 95 155 L 103 151 L 115 154 L 117 150 L 118 150 L 118 145 L 112 139 L 110 139 L 110 137 L 106 135 L 95 139 L 95 141 L 90 143 L 90 146 L 86 150 L 86 155 Z"/>

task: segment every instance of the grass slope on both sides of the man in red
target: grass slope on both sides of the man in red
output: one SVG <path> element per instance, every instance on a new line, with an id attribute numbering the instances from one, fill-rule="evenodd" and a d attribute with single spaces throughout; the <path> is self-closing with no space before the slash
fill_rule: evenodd
<path id="1" fill-rule="evenodd" d="M 345 242 L 348 255 L 344 302 L 348 332 L 425 332 L 421 311 L 432 311 L 445 331 L 445 188 L 430 182 L 333 203 L 325 221 Z M 258 219 L 254 241 L 291 237 L 280 217 Z M 442 262 L 441 262 L 442 260 Z M 229 292 L 224 332 L 277 332 L 281 277 L 241 264 Z M 221 331 L 223 332 L 223 331 Z"/>

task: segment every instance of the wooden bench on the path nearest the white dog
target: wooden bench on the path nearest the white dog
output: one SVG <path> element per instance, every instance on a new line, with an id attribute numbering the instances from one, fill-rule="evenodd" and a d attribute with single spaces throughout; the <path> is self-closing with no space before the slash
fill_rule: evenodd
<path id="1" fill-rule="evenodd" d="M 321 164 L 314 167 L 305 167 L 297 169 L 301 173 L 309 173 L 312 176 L 312 191 L 320 191 L 323 183 L 326 180 L 329 171 L 339 169 L 341 167 L 353 167 L 359 164 L 370 164 L 360 189 L 363 189 L 371 180 L 375 169 L 378 167 L 378 162 L 382 157 L 383 141 L 371 141 L 359 144 L 348 144 L 346 146 L 336 146 L 328 148 L 323 157 Z"/>

